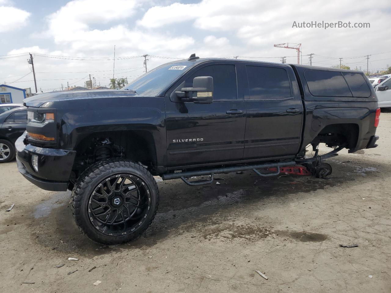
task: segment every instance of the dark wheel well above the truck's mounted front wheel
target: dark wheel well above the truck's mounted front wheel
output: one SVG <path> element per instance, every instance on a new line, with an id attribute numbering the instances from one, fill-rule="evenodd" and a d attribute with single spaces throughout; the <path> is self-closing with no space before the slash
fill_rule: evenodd
<path id="1" fill-rule="evenodd" d="M 151 173 L 157 164 L 152 134 L 142 130 L 94 132 L 83 138 L 75 147 L 73 166 L 77 178 L 88 166 L 114 157 L 130 159 L 147 166 Z"/>

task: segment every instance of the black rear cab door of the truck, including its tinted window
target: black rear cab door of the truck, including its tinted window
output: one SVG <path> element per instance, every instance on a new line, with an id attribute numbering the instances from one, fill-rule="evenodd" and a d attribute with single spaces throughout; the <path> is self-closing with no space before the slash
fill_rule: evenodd
<path id="1" fill-rule="evenodd" d="M 287 65 L 246 63 L 244 159 L 296 155 L 300 148 L 303 103 Z"/>

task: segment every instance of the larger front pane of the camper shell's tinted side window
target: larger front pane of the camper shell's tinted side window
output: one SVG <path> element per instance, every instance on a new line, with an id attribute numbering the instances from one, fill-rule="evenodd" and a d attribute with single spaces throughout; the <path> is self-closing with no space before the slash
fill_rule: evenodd
<path id="1" fill-rule="evenodd" d="M 353 96 L 341 72 L 311 69 L 304 77 L 313 96 Z"/>

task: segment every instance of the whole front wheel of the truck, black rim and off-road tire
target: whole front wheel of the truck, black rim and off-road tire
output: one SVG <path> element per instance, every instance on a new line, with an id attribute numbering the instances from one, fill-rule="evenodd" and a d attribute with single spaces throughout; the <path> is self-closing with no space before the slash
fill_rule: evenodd
<path id="1" fill-rule="evenodd" d="M 72 191 L 72 212 L 91 240 L 114 245 L 135 239 L 154 219 L 159 190 L 151 173 L 125 159 L 93 164 Z"/>

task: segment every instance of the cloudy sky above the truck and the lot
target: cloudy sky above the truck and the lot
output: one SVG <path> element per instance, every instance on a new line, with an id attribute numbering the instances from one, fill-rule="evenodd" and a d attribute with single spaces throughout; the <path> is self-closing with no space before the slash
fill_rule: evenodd
<path id="1" fill-rule="evenodd" d="M 391 1 L 368 0 L 0 0 L 0 84 L 35 92 L 84 86 L 95 78 L 136 79 L 147 70 L 195 53 L 297 63 L 297 51 L 274 44 L 301 43 L 302 64 L 342 64 L 363 71 L 391 66 Z M 369 23 L 366 28 L 300 27 L 299 23 Z M 296 24 L 296 25 L 295 25 Z M 368 25 L 367 25 L 368 26 Z"/>

